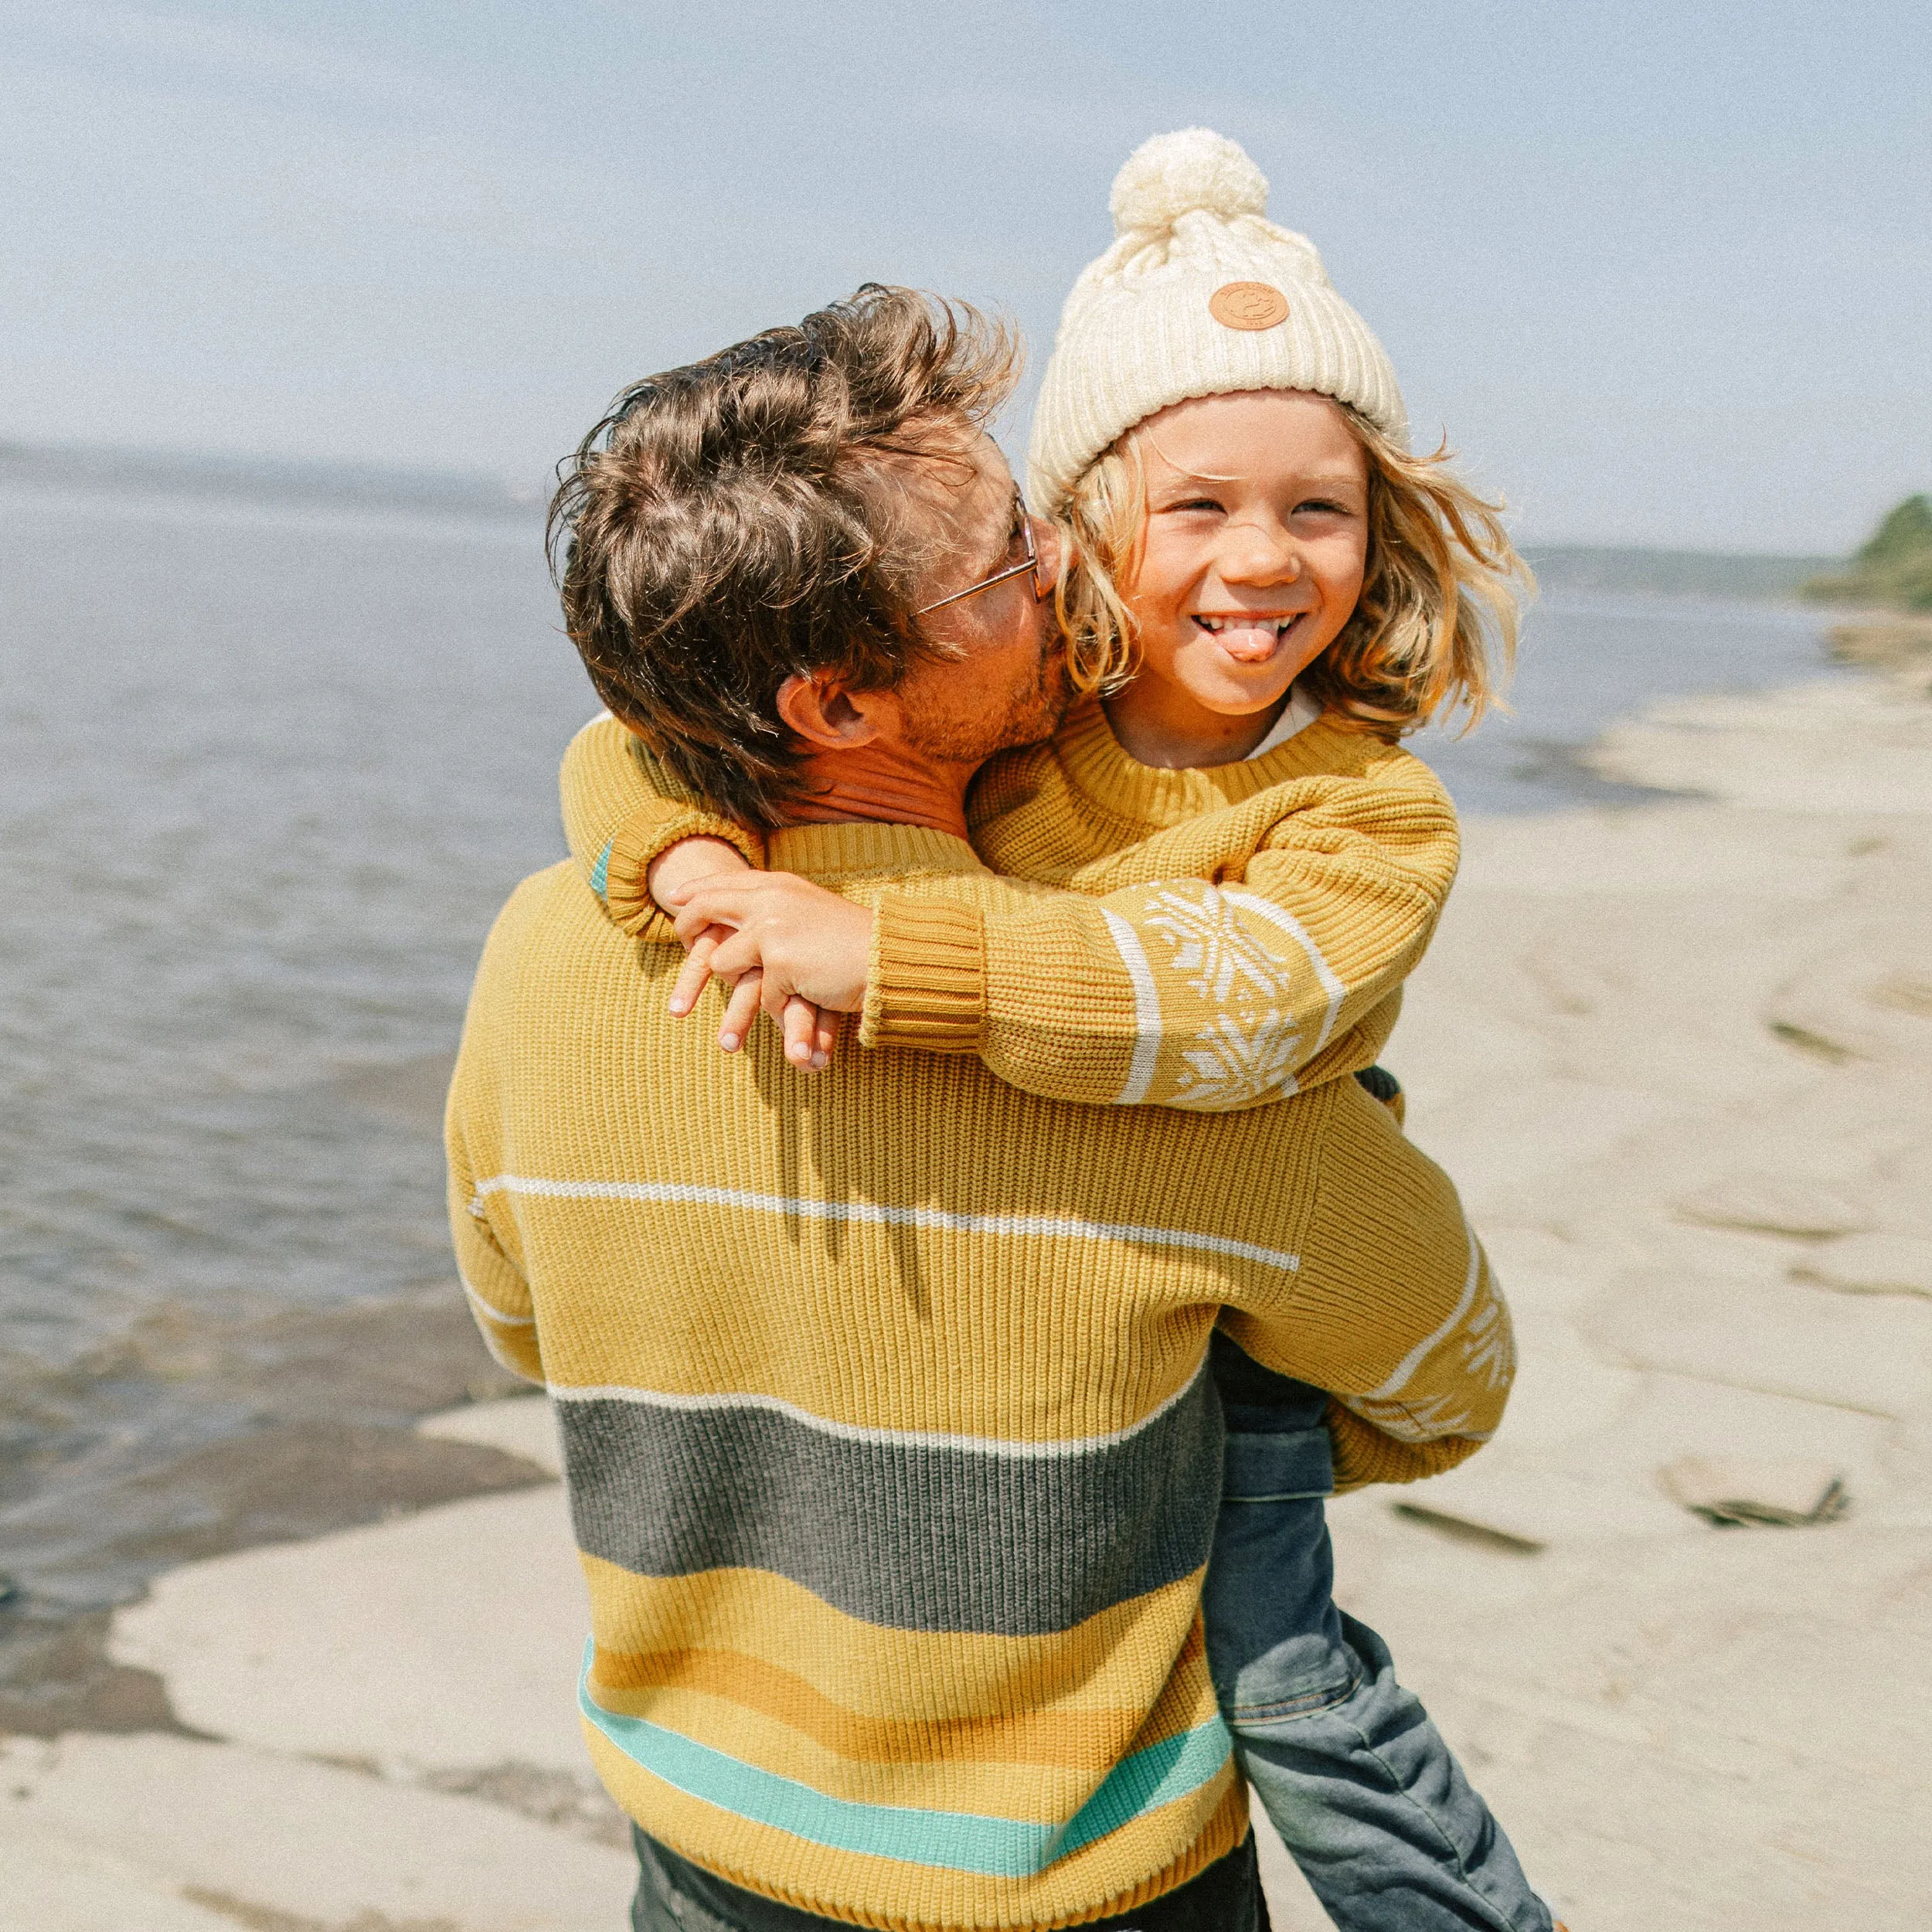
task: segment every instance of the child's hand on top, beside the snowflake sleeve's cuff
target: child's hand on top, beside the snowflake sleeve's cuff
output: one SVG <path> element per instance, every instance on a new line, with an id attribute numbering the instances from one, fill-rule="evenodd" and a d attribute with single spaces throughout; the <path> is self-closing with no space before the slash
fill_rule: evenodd
<path id="1" fill-rule="evenodd" d="M 715 974 L 734 981 L 719 1028 L 726 1053 L 763 1009 L 784 1034 L 788 1061 L 823 1066 L 837 1041 L 831 1016 L 866 1005 L 871 912 L 790 871 L 715 873 L 680 896 L 676 927 L 690 958 L 670 1010 L 690 1012 Z"/>

